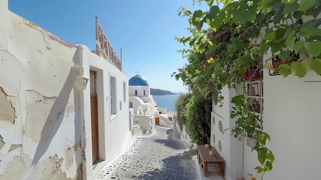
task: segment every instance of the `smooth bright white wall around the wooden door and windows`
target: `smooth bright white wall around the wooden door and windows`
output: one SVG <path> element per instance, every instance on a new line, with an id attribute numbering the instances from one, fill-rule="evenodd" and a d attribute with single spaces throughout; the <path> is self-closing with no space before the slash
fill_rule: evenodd
<path id="1" fill-rule="evenodd" d="M 92 171 L 92 166 L 87 168 L 87 178 L 92 178 L 104 165 L 110 163 L 124 148 L 123 145 L 128 145 L 124 141 L 132 141 L 132 138 L 128 138 L 129 127 L 129 98 L 128 92 L 126 92 L 126 101 L 124 101 L 124 87 L 123 82 L 128 82 L 128 78 L 119 71 L 110 62 L 105 61 L 101 57 L 93 54 L 84 48 L 78 46 L 79 53 L 83 58 L 84 71 L 87 72 L 85 76 L 89 77 L 89 70 L 96 71 L 97 74 L 97 96 L 98 96 L 98 132 L 99 132 L 99 156 L 100 160 L 104 160 L 99 163 L 97 168 Z M 117 114 L 110 115 L 110 75 L 116 77 L 116 106 Z M 128 85 L 128 84 L 127 84 Z M 127 90 L 127 88 L 125 88 Z M 90 90 L 84 91 L 84 104 L 90 105 Z M 121 105 L 122 104 L 122 109 Z M 85 112 L 86 127 L 86 139 L 88 141 L 88 154 L 92 154 L 91 151 L 91 122 L 90 122 L 90 110 Z M 88 165 L 92 164 L 92 159 L 87 159 Z"/>

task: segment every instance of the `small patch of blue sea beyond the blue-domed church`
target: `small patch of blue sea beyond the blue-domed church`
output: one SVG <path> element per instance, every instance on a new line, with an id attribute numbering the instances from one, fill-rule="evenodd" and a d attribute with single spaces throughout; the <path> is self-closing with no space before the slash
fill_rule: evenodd
<path id="1" fill-rule="evenodd" d="M 167 112 L 172 111 L 176 113 L 175 110 L 175 102 L 178 98 L 179 94 L 171 94 L 171 95 L 152 95 L 154 101 L 157 104 L 157 107 L 161 107 L 163 109 L 166 108 Z"/>

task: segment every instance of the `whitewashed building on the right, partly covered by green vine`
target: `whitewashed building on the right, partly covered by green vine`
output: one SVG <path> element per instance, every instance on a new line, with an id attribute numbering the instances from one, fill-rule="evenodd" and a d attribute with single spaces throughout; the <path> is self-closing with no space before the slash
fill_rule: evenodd
<path id="1" fill-rule="evenodd" d="M 266 53 L 263 62 L 270 57 L 272 54 Z M 264 179 L 319 179 L 321 76 L 314 71 L 303 78 L 270 74 L 269 70 L 264 69 L 262 82 L 246 82 L 248 87 L 255 89 L 255 95 L 262 95 L 263 128 L 271 137 L 267 148 L 275 156 L 273 169 L 265 173 Z M 238 89 L 242 90 L 242 87 Z M 211 145 L 224 158 L 227 180 L 250 180 L 248 174 L 256 176 L 254 168 L 260 165 L 257 152 L 251 152 L 253 142 L 248 138 L 238 141 L 229 129 L 235 126 L 235 119 L 230 118 L 233 110 L 231 98 L 239 93 L 242 92 L 225 87 L 222 91 L 223 107 L 213 101 L 211 112 Z M 259 96 L 253 98 L 258 99 Z"/>

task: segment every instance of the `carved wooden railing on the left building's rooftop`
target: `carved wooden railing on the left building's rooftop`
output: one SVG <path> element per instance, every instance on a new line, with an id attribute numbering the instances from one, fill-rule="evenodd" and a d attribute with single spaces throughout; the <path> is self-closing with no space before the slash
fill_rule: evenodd
<path id="1" fill-rule="evenodd" d="M 119 70 L 122 71 L 122 61 L 119 60 L 114 49 L 111 47 L 103 29 L 98 24 L 96 16 L 96 54 L 108 58 Z"/>

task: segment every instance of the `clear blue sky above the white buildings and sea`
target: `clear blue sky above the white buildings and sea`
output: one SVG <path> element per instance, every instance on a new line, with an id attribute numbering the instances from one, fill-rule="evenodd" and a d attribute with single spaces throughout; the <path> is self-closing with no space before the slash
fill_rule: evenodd
<path id="1" fill-rule="evenodd" d="M 203 6 L 203 5 L 202 5 Z M 9 10 L 61 37 L 71 44 L 95 49 L 95 15 L 120 58 L 128 78 L 144 76 L 151 88 L 185 92 L 181 80 L 170 74 L 187 60 L 176 52 L 183 45 L 175 36 L 188 36 L 188 17 L 179 17 L 180 7 L 200 9 L 192 0 L 9 0 Z M 188 48 L 188 47 L 187 47 Z"/>

